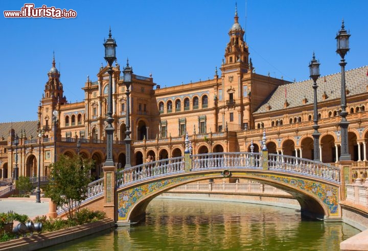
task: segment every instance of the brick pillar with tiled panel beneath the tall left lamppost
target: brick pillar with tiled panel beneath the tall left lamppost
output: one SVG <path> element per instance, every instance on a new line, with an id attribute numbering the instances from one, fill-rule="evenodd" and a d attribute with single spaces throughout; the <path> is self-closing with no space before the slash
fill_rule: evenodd
<path id="1" fill-rule="evenodd" d="M 117 220 L 115 215 L 115 172 L 116 167 L 107 166 L 102 168 L 104 172 L 104 212 L 108 218 Z"/>

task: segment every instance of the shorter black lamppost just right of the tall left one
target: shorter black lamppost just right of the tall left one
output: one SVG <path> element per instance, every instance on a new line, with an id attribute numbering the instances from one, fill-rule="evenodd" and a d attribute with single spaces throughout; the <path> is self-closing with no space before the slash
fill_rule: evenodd
<path id="1" fill-rule="evenodd" d="M 126 90 L 125 90 L 125 94 L 126 94 L 126 100 L 127 100 L 127 108 L 126 108 L 126 131 L 125 131 L 125 168 L 129 168 L 131 167 L 131 163 L 130 163 L 130 120 L 129 120 L 129 110 L 130 110 L 130 103 L 129 103 L 129 87 L 131 85 L 131 79 L 132 79 L 132 74 L 133 74 L 133 69 L 132 67 L 129 66 L 129 61 L 127 60 L 127 65 L 124 68 L 124 84 L 126 86 Z"/>

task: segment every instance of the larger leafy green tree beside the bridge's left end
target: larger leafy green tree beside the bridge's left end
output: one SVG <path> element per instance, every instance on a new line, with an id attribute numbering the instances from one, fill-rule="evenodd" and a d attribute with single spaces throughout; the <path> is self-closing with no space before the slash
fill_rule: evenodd
<path id="1" fill-rule="evenodd" d="M 90 159 L 60 155 L 51 166 L 45 196 L 51 198 L 69 219 L 76 218 L 81 202 L 87 198 L 87 185 L 91 181 L 89 171 L 93 165 Z"/>

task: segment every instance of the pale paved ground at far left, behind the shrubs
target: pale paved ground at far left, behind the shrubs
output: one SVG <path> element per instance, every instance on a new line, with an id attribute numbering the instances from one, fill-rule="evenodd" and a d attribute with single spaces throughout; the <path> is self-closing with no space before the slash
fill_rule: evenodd
<path id="1" fill-rule="evenodd" d="M 38 215 L 49 213 L 49 198 L 41 198 L 41 203 L 36 203 L 36 198 L 0 198 L 0 213 L 12 210 L 17 214 L 28 215 L 31 219 Z"/>

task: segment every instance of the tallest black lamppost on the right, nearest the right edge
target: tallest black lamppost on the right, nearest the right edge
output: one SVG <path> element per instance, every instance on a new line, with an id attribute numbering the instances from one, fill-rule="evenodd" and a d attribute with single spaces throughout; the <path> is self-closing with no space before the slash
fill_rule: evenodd
<path id="1" fill-rule="evenodd" d="M 345 26 L 343 24 L 341 29 L 339 30 L 338 34 L 336 35 L 335 39 L 337 40 L 337 50 L 341 57 L 341 61 L 339 65 L 341 66 L 341 121 L 339 126 L 341 128 L 341 155 L 340 161 L 351 161 L 351 155 L 349 154 L 349 143 L 348 143 L 348 126 L 349 122 L 346 119 L 348 112 L 346 111 L 347 103 L 346 103 L 346 88 L 345 88 L 345 55 L 350 50 L 349 49 L 349 37 L 350 34 L 345 30 Z"/>

